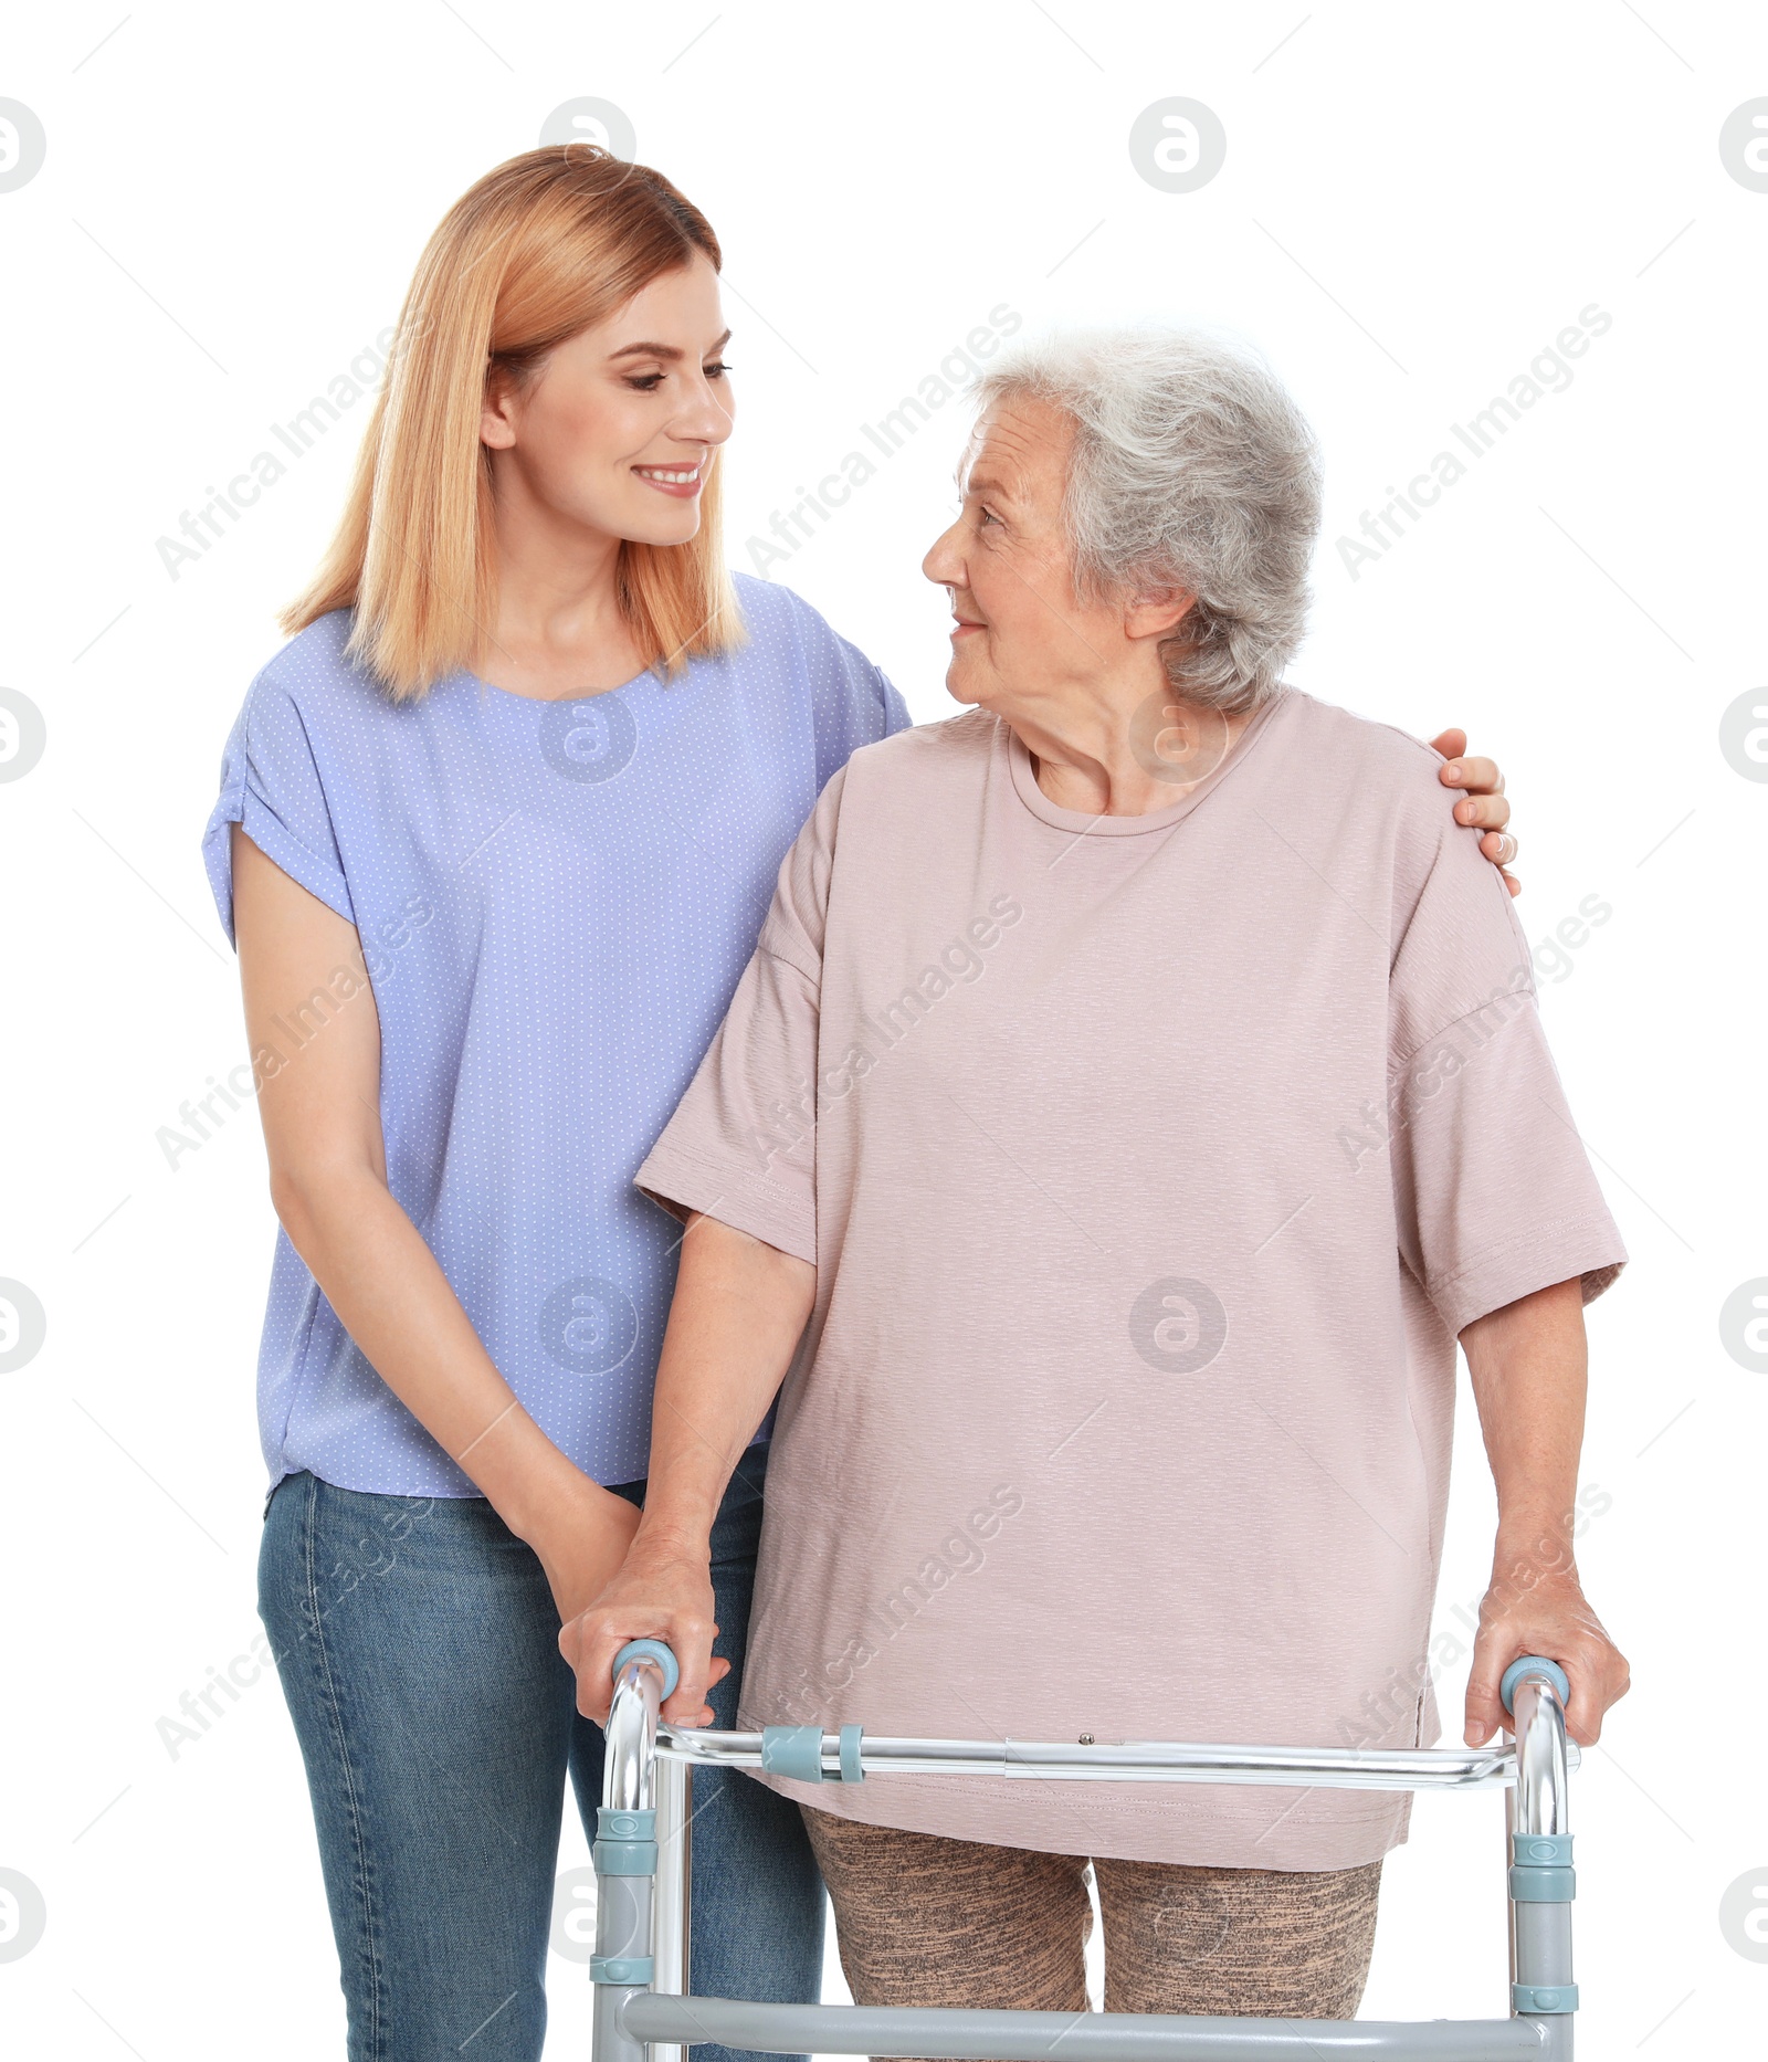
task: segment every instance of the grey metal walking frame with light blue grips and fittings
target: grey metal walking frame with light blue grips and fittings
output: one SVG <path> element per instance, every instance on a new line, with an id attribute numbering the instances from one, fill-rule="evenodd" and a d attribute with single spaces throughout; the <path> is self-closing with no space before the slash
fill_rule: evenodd
<path id="1" fill-rule="evenodd" d="M 1566 1676 L 1527 1656 L 1504 1672 L 1514 1744 L 1479 1749 L 1203 1747 L 1166 1740 L 864 1738 L 858 1726 L 697 1732 L 658 1724 L 675 1656 L 633 1641 L 615 1658 L 596 1862 L 594 2062 L 685 2062 L 695 2041 L 749 2052 L 937 2056 L 951 2062 L 1572 2062 L 1572 1833 Z M 1203 2019 L 759 2004 L 687 1996 L 691 1771 L 761 1769 L 798 1782 L 869 1775 L 1019 1775 L 1056 1782 L 1287 1784 L 1331 1790 L 1504 1786 L 1510 1825 L 1508 2019 Z"/>

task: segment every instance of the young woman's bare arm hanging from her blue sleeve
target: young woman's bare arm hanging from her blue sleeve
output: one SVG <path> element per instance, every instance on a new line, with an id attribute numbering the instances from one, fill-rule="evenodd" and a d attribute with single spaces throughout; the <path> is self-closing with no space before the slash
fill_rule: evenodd
<path id="1" fill-rule="evenodd" d="M 637 1514 L 576 1468 L 516 1402 L 386 1186 L 380 1015 L 355 926 L 239 825 L 233 913 L 276 1217 L 382 1382 L 536 1551 L 569 1619 L 619 1565 Z M 301 1025 L 295 1010 L 312 996 L 322 998 L 324 1021 L 309 1010 Z"/>

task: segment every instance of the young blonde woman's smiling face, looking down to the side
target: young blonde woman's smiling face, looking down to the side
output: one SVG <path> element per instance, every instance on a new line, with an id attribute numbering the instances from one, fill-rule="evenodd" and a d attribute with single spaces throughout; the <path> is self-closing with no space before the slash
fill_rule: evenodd
<path id="1" fill-rule="evenodd" d="M 499 454 L 499 491 L 604 536 L 687 542 L 730 435 L 728 336 L 706 258 L 662 272 L 526 386 L 487 394 L 479 435 Z"/>

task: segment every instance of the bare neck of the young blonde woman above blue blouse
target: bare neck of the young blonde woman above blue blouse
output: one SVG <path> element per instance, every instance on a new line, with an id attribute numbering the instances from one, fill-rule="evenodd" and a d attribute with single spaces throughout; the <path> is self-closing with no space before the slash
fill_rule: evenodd
<path id="1" fill-rule="evenodd" d="M 503 454 L 495 454 L 501 458 Z M 497 608 L 485 678 L 551 701 L 619 687 L 642 654 L 619 606 L 621 540 L 561 518 L 514 468 L 493 464 Z"/>

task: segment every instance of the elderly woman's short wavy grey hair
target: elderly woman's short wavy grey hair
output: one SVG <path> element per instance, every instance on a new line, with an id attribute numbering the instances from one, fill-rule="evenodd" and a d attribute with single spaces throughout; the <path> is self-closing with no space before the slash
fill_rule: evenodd
<path id="1" fill-rule="evenodd" d="M 1069 332 L 1019 344 L 976 394 L 1073 419 L 1077 590 L 1192 594 L 1161 643 L 1172 689 L 1227 713 L 1269 701 L 1302 641 L 1320 528 L 1320 452 L 1269 365 L 1197 330 Z"/>

